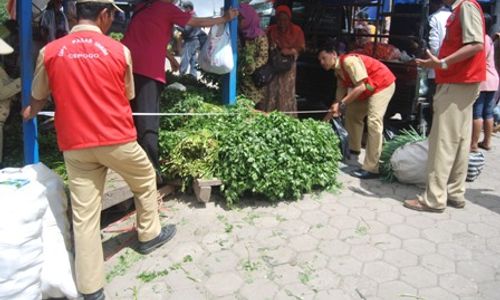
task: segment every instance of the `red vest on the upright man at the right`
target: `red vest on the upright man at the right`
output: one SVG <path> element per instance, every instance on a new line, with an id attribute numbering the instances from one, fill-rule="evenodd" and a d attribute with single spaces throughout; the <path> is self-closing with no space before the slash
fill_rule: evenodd
<path id="1" fill-rule="evenodd" d="M 481 6 L 476 0 L 466 1 L 473 3 L 481 12 L 483 32 L 485 32 Z M 463 2 L 453 10 L 453 13 L 446 22 L 446 37 L 439 50 L 439 58 L 445 58 L 463 46 L 462 24 L 460 23 L 460 8 L 462 4 Z M 477 83 L 484 80 L 486 80 L 486 55 L 484 50 L 464 61 L 449 65 L 446 70 L 436 69 L 436 83 Z"/>

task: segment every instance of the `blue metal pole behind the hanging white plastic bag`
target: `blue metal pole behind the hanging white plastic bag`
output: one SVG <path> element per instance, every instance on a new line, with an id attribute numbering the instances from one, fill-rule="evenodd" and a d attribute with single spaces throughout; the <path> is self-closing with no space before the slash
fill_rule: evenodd
<path id="1" fill-rule="evenodd" d="M 238 8 L 238 0 L 224 0 L 224 10 L 229 7 Z M 234 68 L 224 75 L 222 82 L 222 102 L 224 104 L 236 104 L 236 71 L 238 69 L 238 18 L 234 18 L 229 24 L 231 32 L 231 46 L 233 48 Z"/>

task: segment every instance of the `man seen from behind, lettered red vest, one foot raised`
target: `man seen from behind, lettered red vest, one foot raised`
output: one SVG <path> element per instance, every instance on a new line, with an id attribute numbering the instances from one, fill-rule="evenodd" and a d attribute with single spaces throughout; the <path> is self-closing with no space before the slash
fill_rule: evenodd
<path id="1" fill-rule="evenodd" d="M 31 104 L 22 112 L 25 120 L 35 117 L 52 93 L 71 191 L 76 281 L 84 299 L 104 299 L 100 216 L 108 168 L 134 193 L 138 252 L 147 254 L 175 234 L 174 225 L 161 228 L 155 170 L 137 143 L 130 51 L 103 34 L 117 10 L 113 0 L 77 0 L 78 25 L 40 51 Z"/>

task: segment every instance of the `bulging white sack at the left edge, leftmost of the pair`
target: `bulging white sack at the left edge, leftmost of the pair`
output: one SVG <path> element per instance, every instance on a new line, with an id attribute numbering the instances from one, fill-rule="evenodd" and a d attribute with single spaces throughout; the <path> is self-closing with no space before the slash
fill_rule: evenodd
<path id="1" fill-rule="evenodd" d="M 0 170 L 0 299 L 41 299 L 46 189 L 23 169 Z"/>

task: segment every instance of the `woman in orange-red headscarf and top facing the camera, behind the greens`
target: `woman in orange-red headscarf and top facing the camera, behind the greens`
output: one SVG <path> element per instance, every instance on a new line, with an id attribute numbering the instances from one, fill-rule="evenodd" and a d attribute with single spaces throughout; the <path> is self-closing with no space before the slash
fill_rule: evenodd
<path id="1" fill-rule="evenodd" d="M 282 55 L 292 56 L 295 61 L 305 50 L 304 32 L 291 22 L 292 11 L 286 5 L 276 7 L 276 24 L 267 29 L 271 48 L 277 48 Z M 284 73 L 277 74 L 267 89 L 265 111 L 297 111 L 295 99 L 296 64 Z"/>

